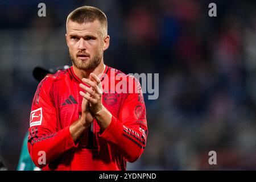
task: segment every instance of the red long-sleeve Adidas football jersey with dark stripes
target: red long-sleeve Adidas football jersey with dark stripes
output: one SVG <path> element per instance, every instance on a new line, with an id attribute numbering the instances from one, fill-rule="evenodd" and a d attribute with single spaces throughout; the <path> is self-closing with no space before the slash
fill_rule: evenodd
<path id="1" fill-rule="evenodd" d="M 73 67 L 40 82 L 32 101 L 27 143 L 36 166 L 43 170 L 125 170 L 126 161 L 134 162 L 141 156 L 147 137 L 141 85 L 134 77 L 108 66 L 104 73 L 100 77 L 102 104 L 112 113 L 112 121 L 101 133 L 94 119 L 75 142 L 69 126 L 80 117 L 79 84 L 84 83 Z M 133 87 L 133 93 L 117 92 L 118 86 L 126 87 L 121 81 L 126 82 L 127 90 Z"/>

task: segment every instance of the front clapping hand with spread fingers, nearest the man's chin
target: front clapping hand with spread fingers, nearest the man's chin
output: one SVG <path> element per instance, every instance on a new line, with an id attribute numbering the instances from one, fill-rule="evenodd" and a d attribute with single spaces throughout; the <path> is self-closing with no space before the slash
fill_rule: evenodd
<path id="1" fill-rule="evenodd" d="M 104 107 L 101 100 L 103 89 L 100 78 L 98 78 L 94 73 L 90 73 L 90 77 L 93 81 L 82 78 L 82 82 L 88 84 L 90 88 L 83 84 L 80 84 L 79 86 L 86 91 L 86 94 L 80 91 L 80 95 L 83 97 L 83 99 L 89 102 L 90 111 L 93 115 L 96 115 L 96 113 L 98 113 L 98 111 L 101 111 Z"/>

